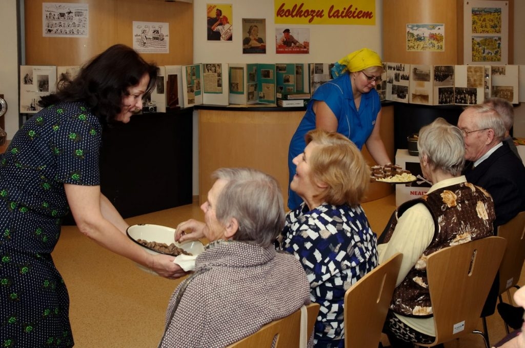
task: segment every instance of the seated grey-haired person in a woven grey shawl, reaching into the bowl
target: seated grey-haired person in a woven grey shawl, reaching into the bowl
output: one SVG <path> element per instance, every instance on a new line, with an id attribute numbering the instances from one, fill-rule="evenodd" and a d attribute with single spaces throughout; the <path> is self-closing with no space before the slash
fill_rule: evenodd
<path id="1" fill-rule="evenodd" d="M 205 222 L 176 229 L 178 241 L 210 243 L 170 299 L 161 347 L 228 346 L 310 303 L 301 264 L 273 244 L 285 223 L 277 181 L 248 168 L 213 177 L 201 206 Z"/>

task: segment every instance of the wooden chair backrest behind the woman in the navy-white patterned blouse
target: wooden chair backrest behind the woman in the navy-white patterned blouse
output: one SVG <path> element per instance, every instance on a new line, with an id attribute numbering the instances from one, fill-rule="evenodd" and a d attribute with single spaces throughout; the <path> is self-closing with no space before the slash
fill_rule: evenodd
<path id="1" fill-rule="evenodd" d="M 394 254 L 346 290 L 345 348 L 377 348 L 402 260 Z"/>

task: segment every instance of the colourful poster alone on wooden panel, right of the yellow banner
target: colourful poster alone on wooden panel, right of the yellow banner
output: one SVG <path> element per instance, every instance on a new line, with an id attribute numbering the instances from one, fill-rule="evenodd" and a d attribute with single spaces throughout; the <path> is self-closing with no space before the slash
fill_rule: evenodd
<path id="1" fill-rule="evenodd" d="M 407 24 L 407 51 L 445 50 L 445 24 Z"/>

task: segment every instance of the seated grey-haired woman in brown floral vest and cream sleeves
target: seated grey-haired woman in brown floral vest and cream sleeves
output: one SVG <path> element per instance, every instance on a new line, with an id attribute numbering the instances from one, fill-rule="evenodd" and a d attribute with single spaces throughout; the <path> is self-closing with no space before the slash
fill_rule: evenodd
<path id="1" fill-rule="evenodd" d="M 461 176 L 465 145 L 461 130 L 442 118 L 419 131 L 421 170 L 433 183 L 425 196 L 394 212 L 378 246 L 379 262 L 403 253 L 384 332 L 392 347 L 432 343 L 435 328 L 426 277 L 426 257 L 450 245 L 492 236 L 490 195 Z"/>

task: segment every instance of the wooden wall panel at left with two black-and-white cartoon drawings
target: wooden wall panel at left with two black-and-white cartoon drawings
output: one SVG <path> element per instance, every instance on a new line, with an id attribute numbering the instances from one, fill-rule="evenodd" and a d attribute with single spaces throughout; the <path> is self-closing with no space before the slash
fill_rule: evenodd
<path id="1" fill-rule="evenodd" d="M 193 4 L 160 0 L 55 0 L 87 3 L 89 37 L 42 36 L 42 3 L 25 0 L 25 49 L 27 65 L 82 65 L 113 44 L 133 45 L 132 22 L 170 24 L 169 54 L 142 54 L 158 65 L 193 63 Z"/>

